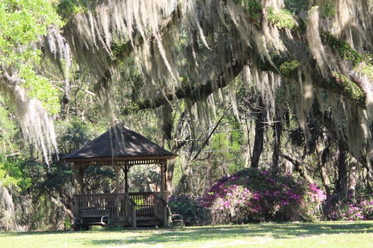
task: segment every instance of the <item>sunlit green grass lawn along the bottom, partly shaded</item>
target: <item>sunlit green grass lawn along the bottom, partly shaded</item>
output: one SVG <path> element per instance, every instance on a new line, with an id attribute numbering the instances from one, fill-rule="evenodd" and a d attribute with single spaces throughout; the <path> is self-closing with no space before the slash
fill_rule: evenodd
<path id="1" fill-rule="evenodd" d="M 373 247 L 373 221 L 0 232 L 0 247 Z"/>

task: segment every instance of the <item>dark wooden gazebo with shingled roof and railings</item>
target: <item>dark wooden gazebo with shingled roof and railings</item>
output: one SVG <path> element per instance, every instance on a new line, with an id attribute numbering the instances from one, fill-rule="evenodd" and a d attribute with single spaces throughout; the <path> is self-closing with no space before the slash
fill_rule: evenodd
<path id="1" fill-rule="evenodd" d="M 168 227 L 167 160 L 175 157 L 172 152 L 124 125 L 117 125 L 64 157 L 72 164 L 75 173 L 75 228 L 89 225 Z M 161 191 L 129 193 L 127 176 L 135 164 L 158 164 L 161 167 Z M 83 192 L 84 171 L 92 166 L 114 168 L 114 193 Z M 123 188 L 119 185 L 121 169 L 124 171 L 124 192 L 119 190 Z"/>

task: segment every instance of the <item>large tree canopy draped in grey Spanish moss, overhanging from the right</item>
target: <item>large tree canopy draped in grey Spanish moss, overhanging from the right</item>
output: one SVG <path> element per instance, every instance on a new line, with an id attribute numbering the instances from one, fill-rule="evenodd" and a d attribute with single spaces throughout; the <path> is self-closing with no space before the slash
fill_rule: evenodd
<path id="1" fill-rule="evenodd" d="M 240 77 L 274 115 L 296 111 L 331 128 L 354 157 L 370 157 L 372 1 L 62 1 L 72 55 L 114 114 L 201 106 Z M 50 45 L 52 46 L 52 45 Z M 116 87 L 136 91 L 115 102 Z M 233 94 L 232 98 L 233 98 Z M 232 99 L 233 102 L 235 101 Z M 111 103 L 110 103 L 111 102 Z M 208 105 L 208 104 L 207 104 Z M 166 115 L 165 115 L 165 118 Z M 369 159 L 365 160 L 369 166 Z"/>

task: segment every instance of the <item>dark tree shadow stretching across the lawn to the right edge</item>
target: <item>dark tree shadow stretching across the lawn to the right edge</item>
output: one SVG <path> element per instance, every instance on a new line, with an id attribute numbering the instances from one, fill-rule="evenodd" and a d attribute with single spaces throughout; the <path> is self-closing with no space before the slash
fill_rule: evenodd
<path id="1" fill-rule="evenodd" d="M 136 231 L 135 231 L 136 232 Z M 142 237 L 128 239 L 90 240 L 91 244 L 159 244 L 213 241 L 215 239 L 240 239 L 244 237 L 268 237 L 291 239 L 339 233 L 373 233 L 373 222 L 322 222 L 232 225 L 220 227 L 187 227 L 183 229 L 158 230 Z"/>

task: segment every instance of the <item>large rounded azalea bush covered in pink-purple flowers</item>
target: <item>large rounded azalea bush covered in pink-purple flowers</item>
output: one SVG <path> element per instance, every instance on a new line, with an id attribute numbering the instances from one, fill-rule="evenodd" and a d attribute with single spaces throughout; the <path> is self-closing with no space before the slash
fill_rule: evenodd
<path id="1" fill-rule="evenodd" d="M 222 177 L 203 203 L 214 223 L 246 223 L 309 219 L 325 198 L 320 188 L 300 178 L 250 168 Z"/>

